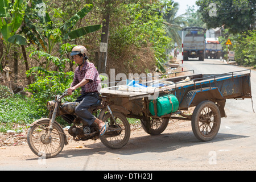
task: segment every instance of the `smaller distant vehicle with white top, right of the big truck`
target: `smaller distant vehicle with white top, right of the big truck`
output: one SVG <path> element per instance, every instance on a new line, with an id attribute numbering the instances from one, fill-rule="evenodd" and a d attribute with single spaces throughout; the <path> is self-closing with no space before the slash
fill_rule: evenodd
<path id="1" fill-rule="evenodd" d="M 220 59 L 222 56 L 222 47 L 218 38 L 205 39 L 205 57 L 210 59 Z"/>

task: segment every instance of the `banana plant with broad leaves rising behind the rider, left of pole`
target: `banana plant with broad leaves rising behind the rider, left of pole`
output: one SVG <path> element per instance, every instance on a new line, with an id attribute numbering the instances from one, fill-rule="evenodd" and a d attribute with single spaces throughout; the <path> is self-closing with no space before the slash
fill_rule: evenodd
<path id="1" fill-rule="evenodd" d="M 38 55 L 40 57 L 42 55 L 46 55 L 44 57 L 46 57 L 47 70 L 50 61 L 52 61 L 49 58 L 51 56 L 54 56 L 52 50 L 57 43 L 63 44 L 63 40 L 67 42 L 68 39 L 76 39 L 80 36 L 84 36 L 91 32 L 100 30 L 101 28 L 101 24 L 96 24 L 73 30 L 75 28 L 76 23 L 79 22 L 80 19 L 84 18 L 84 16 L 88 14 L 90 10 L 92 10 L 92 4 L 86 4 L 80 11 L 78 11 L 60 27 L 54 27 L 53 25 L 55 23 L 52 22 L 49 14 L 46 11 L 40 11 L 39 13 L 39 10 L 43 9 L 42 6 L 46 6 L 42 2 L 42 0 L 35 0 L 30 2 L 30 10 L 28 10 L 28 12 L 30 13 L 27 13 L 24 16 L 24 26 L 22 27 L 22 30 L 30 42 L 37 44 L 39 47 L 43 49 L 43 51 L 35 51 L 34 53 L 31 53 L 31 56 Z M 39 10 L 35 11 L 36 7 L 39 7 Z M 46 8 L 44 8 L 44 10 L 46 10 Z M 33 20 L 35 20 L 35 18 L 37 18 L 36 20 L 40 21 L 41 27 L 36 26 L 35 23 L 32 23 Z"/>

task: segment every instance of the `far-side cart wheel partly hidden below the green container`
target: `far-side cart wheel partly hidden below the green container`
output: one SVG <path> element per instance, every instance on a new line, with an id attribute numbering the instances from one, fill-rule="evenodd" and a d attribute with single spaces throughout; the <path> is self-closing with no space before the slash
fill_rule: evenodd
<path id="1" fill-rule="evenodd" d="M 141 119 L 141 126 L 147 134 L 160 135 L 164 130 L 166 130 L 169 119 L 170 118 L 147 118 L 147 121 Z M 146 126 L 147 123 L 150 123 L 149 127 Z"/>

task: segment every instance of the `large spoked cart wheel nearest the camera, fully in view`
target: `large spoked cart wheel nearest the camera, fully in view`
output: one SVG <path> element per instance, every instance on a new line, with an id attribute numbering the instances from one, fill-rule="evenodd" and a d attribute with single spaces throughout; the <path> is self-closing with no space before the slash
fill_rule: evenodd
<path id="1" fill-rule="evenodd" d="M 212 101 L 200 102 L 193 111 L 192 130 L 195 137 L 201 141 L 209 141 L 216 137 L 220 123 L 220 110 Z"/>

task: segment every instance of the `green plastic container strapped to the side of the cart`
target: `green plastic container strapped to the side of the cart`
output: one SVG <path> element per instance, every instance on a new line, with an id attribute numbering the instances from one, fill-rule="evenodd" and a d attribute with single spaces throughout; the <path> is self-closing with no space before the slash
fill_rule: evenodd
<path id="1" fill-rule="evenodd" d="M 156 98 L 156 108 L 158 110 L 158 116 L 174 113 L 179 109 L 179 101 L 177 100 L 177 97 L 172 94 L 164 95 Z M 152 115 L 155 115 L 154 100 L 150 101 L 149 110 Z"/>

